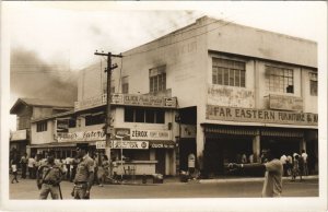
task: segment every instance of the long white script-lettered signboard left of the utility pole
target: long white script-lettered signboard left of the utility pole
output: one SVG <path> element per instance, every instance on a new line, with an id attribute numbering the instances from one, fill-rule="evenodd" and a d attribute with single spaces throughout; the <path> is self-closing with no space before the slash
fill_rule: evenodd
<path id="1" fill-rule="evenodd" d="M 58 133 L 58 142 L 67 141 L 96 141 L 105 140 L 106 134 L 104 130 L 92 130 L 92 131 L 79 131 L 79 132 L 68 132 L 68 133 Z"/>

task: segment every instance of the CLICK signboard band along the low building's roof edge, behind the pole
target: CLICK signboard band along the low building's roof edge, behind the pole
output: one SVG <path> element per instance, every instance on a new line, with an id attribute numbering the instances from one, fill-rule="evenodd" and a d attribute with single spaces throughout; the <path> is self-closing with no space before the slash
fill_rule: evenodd
<path id="1" fill-rule="evenodd" d="M 85 101 L 75 102 L 74 110 L 89 109 L 102 105 L 106 105 L 106 94 L 95 96 Z M 163 97 L 152 95 L 134 95 L 134 94 L 113 94 L 113 105 L 130 105 L 144 107 L 176 107 L 176 97 Z"/>

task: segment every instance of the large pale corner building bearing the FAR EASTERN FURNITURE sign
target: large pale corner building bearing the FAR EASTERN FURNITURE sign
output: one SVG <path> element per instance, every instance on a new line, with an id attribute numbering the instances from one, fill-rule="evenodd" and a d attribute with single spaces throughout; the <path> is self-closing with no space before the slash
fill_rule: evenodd
<path id="1" fill-rule="evenodd" d="M 176 120 L 191 126 L 175 134 L 179 168 L 192 152 L 203 173 L 222 175 L 239 155 L 258 161 L 270 140 L 281 154 L 317 158 L 315 42 L 204 16 L 122 56 L 116 89 L 177 97 Z"/>

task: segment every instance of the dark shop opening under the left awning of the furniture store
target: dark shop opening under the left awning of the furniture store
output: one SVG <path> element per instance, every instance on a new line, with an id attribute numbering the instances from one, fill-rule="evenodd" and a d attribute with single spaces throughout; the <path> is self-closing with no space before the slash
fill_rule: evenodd
<path id="1" fill-rule="evenodd" d="M 247 136 L 215 136 L 207 138 L 204 144 L 206 175 L 224 175 L 227 163 L 241 163 L 242 155 L 246 158 L 253 152 L 253 138 Z"/>

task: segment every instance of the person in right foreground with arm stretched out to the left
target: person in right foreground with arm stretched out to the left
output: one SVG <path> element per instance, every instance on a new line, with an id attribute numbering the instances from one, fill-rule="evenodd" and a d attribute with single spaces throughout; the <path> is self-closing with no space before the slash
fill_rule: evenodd
<path id="1" fill-rule="evenodd" d="M 263 164 L 229 164 L 230 168 L 262 168 L 266 170 L 265 182 L 262 187 L 262 197 L 281 197 L 283 166 L 277 154 L 278 146 L 273 141 L 262 150 L 262 156 L 267 161 Z"/>

